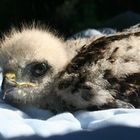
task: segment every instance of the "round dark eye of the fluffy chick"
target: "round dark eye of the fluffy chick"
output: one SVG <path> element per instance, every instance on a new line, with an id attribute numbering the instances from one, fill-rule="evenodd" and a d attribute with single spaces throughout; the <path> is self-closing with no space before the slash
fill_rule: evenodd
<path id="1" fill-rule="evenodd" d="M 37 64 L 34 64 L 31 68 L 31 74 L 34 76 L 34 77 L 40 77 L 40 76 L 43 76 L 47 73 L 49 69 L 49 66 L 48 64 L 46 63 L 37 63 Z"/>

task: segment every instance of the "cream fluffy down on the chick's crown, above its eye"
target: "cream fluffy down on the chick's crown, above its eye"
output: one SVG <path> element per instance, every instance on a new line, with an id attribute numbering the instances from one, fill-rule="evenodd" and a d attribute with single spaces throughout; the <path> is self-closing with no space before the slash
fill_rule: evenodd
<path id="1" fill-rule="evenodd" d="M 68 55 L 63 40 L 54 36 L 49 31 L 37 28 L 13 31 L 10 35 L 5 36 L 2 41 L 2 48 L 5 47 L 8 48 L 8 52 L 6 53 L 9 58 L 18 55 L 16 58 L 22 60 L 20 57 L 25 57 L 26 61 L 24 62 L 18 62 L 18 59 L 14 59 L 14 62 L 17 61 L 21 67 L 26 65 L 24 63 L 28 62 L 27 59 L 32 61 L 35 58 L 37 60 L 45 58 L 54 67 L 54 70 L 55 68 L 57 70 L 62 69 L 68 62 Z"/>

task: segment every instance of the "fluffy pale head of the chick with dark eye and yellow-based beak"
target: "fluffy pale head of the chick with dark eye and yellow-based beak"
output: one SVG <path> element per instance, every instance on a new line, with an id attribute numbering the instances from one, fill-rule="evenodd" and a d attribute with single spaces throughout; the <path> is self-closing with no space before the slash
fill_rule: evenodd
<path id="1" fill-rule="evenodd" d="M 51 104 L 53 79 L 68 63 L 65 49 L 61 39 L 38 29 L 5 36 L 0 48 L 3 99 L 16 105 Z"/>

